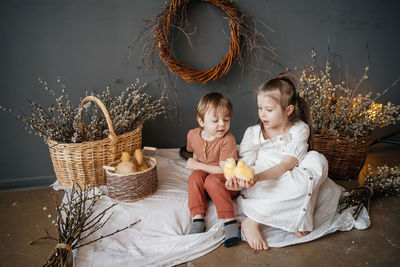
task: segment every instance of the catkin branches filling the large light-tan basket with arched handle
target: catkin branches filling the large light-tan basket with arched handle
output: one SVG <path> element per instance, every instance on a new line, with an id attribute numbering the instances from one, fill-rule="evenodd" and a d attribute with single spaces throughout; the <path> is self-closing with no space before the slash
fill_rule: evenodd
<path id="1" fill-rule="evenodd" d="M 60 79 L 57 82 L 61 85 L 61 92 L 57 94 L 49 88 L 48 83 L 39 78 L 44 90 L 54 96 L 57 104 L 52 104 L 47 109 L 33 101 L 30 102 L 31 114 L 22 116 L 0 106 L 3 111 L 8 111 L 17 120 L 26 124 L 25 129 L 30 134 L 38 135 L 46 140 L 53 140 L 60 143 L 81 143 L 85 141 L 102 140 L 109 135 L 109 129 L 104 116 L 98 106 L 89 109 L 91 103 L 84 106 L 85 117 L 89 118 L 87 127 L 80 127 L 78 109 L 75 107 L 66 93 L 66 86 Z M 111 89 L 107 86 L 102 93 L 92 93 L 99 98 L 107 107 L 115 133 L 117 135 L 132 131 L 149 119 L 154 119 L 165 114 L 169 109 L 166 96 L 152 101 L 151 96 L 145 92 L 146 84 L 139 85 L 137 79 L 122 91 L 119 96 L 111 96 Z M 86 92 L 86 95 L 88 93 Z"/>

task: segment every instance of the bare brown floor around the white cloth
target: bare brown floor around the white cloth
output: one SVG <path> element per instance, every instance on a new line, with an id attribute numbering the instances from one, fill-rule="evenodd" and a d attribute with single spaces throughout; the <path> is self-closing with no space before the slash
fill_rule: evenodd
<path id="1" fill-rule="evenodd" d="M 367 163 L 400 164 L 398 146 L 372 147 Z M 336 181 L 345 188 L 356 181 Z M 61 197 L 59 193 L 58 197 Z M 40 266 L 55 242 L 29 241 L 55 235 L 47 212 L 53 211 L 51 189 L 0 192 L 0 266 Z M 54 214 L 53 214 L 54 216 Z M 232 248 L 220 246 L 211 253 L 183 266 L 400 266 L 400 199 L 374 197 L 370 205 L 371 227 L 364 231 L 336 232 L 318 240 L 255 252 L 245 242 Z"/>

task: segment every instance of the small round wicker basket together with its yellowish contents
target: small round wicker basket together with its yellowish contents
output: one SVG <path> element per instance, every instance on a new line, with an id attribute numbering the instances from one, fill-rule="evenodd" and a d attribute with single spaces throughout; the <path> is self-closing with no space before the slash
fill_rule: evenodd
<path id="1" fill-rule="evenodd" d="M 123 152 L 121 158 L 106 171 L 107 195 L 117 201 L 133 202 L 143 199 L 157 190 L 157 162 L 136 149 L 133 157 Z"/>

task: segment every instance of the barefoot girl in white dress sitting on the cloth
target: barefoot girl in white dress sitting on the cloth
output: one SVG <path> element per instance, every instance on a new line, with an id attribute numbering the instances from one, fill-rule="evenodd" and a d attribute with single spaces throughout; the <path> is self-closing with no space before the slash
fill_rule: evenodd
<path id="1" fill-rule="evenodd" d="M 239 157 L 253 166 L 256 175 L 250 183 L 234 177 L 226 187 L 244 188 L 238 198 L 247 216 L 242 222 L 243 238 L 253 249 L 267 250 L 260 224 L 298 237 L 313 230 L 314 206 L 327 178 L 328 163 L 322 154 L 307 152 L 307 105 L 296 94 L 289 75 L 263 83 L 257 90 L 257 104 L 259 124 L 246 130 L 239 147 Z M 340 189 L 333 185 L 329 192 L 337 197 Z"/>

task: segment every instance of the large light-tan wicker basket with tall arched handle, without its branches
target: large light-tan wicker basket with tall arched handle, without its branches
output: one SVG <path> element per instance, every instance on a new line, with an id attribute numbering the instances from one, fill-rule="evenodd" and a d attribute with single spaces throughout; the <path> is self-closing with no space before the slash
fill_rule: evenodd
<path id="1" fill-rule="evenodd" d="M 73 181 L 81 187 L 93 187 L 106 184 L 103 166 L 109 165 L 119 158 L 123 151 L 130 154 L 142 145 L 142 125 L 135 130 L 117 136 L 111 117 L 105 105 L 96 97 L 88 96 L 80 103 L 79 116 L 81 127 L 83 105 L 95 102 L 107 120 L 110 135 L 93 142 L 58 143 L 47 140 L 53 162 L 54 172 L 60 185 L 71 188 Z"/>

